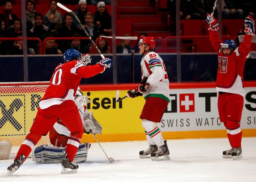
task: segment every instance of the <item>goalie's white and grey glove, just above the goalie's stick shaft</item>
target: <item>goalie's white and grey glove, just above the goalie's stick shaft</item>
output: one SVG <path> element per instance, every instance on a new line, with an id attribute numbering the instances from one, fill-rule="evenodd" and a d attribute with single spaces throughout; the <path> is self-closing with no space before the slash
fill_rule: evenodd
<path id="1" fill-rule="evenodd" d="M 86 133 L 92 132 L 94 134 L 101 134 L 102 132 L 102 127 L 93 117 L 92 111 L 90 111 L 90 114 L 84 113 L 84 130 Z"/>

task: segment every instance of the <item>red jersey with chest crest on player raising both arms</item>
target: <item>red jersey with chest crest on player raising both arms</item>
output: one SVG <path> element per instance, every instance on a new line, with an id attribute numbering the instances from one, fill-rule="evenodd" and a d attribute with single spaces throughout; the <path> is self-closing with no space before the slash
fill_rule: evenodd
<path id="1" fill-rule="evenodd" d="M 252 36 L 245 34 L 244 42 L 228 56 L 224 56 L 221 51 L 222 41 L 218 31 L 210 30 L 209 37 L 212 47 L 218 53 L 216 90 L 244 96 L 244 64 L 250 55 Z"/>

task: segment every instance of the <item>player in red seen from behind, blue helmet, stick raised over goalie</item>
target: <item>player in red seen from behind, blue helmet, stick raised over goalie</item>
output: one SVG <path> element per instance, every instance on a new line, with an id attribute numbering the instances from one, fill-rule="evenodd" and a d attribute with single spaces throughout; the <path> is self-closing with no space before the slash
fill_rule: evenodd
<path id="1" fill-rule="evenodd" d="M 68 49 L 64 53 L 64 64 L 56 67 L 44 97 L 41 99 L 35 121 L 26 136 L 25 141 L 14 159 L 14 163 L 7 168 L 7 175 L 14 173 L 26 160 L 33 147 L 42 135 L 47 135 L 56 120 L 60 119 L 71 132 L 63 155 L 62 173 L 77 172 L 78 165 L 72 161 L 77 152 L 83 135 L 83 124 L 74 102 L 75 93 L 81 78 L 89 78 L 103 73 L 110 68 L 112 60 L 105 58 L 96 65 L 85 66 L 81 60 L 81 53 L 75 49 Z"/>

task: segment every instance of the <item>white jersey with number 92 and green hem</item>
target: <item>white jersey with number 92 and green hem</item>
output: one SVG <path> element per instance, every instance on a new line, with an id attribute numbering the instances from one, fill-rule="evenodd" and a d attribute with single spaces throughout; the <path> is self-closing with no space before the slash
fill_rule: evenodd
<path id="1" fill-rule="evenodd" d="M 140 65 L 142 78 L 148 77 L 146 83 L 150 84 L 144 98 L 158 97 L 170 102 L 169 79 L 163 59 L 157 53 L 149 52 L 143 56 Z"/>

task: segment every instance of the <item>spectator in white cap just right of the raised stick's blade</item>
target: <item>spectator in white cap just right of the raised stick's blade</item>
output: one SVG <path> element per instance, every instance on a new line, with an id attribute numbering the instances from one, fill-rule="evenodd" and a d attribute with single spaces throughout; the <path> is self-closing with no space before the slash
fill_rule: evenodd
<path id="1" fill-rule="evenodd" d="M 78 19 L 80 20 L 81 24 L 84 25 L 84 16 L 87 13 L 87 1 L 86 0 L 79 0 L 78 1 L 78 10 L 75 12 L 75 15 L 77 15 Z M 78 21 L 75 17 L 73 17 L 73 23 L 76 27 L 80 27 L 78 24 Z"/>

